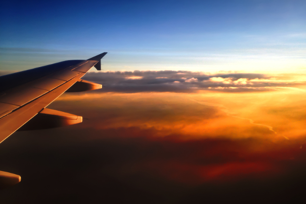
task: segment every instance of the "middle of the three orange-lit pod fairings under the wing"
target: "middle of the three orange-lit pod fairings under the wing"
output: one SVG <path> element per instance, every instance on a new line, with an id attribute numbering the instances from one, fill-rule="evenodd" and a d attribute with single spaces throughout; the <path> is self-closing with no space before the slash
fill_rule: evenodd
<path id="1" fill-rule="evenodd" d="M 82 122 L 82 116 L 44 108 L 18 131 L 40 130 L 74 125 Z"/>

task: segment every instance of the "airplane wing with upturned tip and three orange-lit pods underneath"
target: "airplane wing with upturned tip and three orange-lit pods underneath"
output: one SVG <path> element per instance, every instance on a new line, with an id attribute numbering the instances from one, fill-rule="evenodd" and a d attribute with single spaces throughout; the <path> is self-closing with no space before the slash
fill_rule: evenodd
<path id="1" fill-rule="evenodd" d="M 104 52 L 88 60 L 68 60 L 0 76 L 0 143 L 15 131 L 73 125 L 82 117 L 46 108 L 65 92 L 101 89 L 101 84 L 82 80 L 95 67 L 101 70 Z M 21 176 L 0 171 L 0 188 L 15 185 Z"/>

